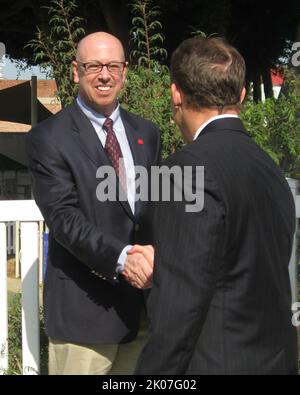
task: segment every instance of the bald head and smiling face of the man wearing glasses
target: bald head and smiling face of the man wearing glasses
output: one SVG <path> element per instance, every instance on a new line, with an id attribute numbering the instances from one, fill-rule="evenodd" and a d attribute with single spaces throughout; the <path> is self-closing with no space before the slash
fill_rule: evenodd
<path id="1" fill-rule="evenodd" d="M 78 45 L 73 62 L 74 82 L 79 83 L 79 94 L 86 105 L 95 111 L 110 116 L 116 108 L 116 98 L 123 88 L 126 67 L 110 72 L 107 67 L 101 71 L 86 71 L 82 63 L 124 62 L 121 42 L 107 33 L 93 33 Z"/>

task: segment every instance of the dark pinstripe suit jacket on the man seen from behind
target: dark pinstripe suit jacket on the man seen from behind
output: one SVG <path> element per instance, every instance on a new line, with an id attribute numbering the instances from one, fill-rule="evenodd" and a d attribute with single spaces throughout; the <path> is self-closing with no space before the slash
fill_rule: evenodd
<path id="1" fill-rule="evenodd" d="M 156 205 L 151 335 L 137 374 L 293 374 L 288 276 L 294 202 L 237 118 L 210 123 L 168 166 L 205 166 L 205 202 Z"/>

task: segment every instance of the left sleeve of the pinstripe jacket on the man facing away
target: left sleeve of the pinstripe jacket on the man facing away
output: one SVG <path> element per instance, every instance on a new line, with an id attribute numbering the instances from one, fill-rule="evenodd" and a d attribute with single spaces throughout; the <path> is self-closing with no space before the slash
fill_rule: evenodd
<path id="1" fill-rule="evenodd" d="M 181 165 L 186 159 L 176 157 Z M 225 226 L 224 205 L 207 172 L 203 192 L 200 212 L 186 212 L 185 201 L 157 204 L 150 337 L 136 374 L 185 374 L 201 336 L 220 273 Z"/>

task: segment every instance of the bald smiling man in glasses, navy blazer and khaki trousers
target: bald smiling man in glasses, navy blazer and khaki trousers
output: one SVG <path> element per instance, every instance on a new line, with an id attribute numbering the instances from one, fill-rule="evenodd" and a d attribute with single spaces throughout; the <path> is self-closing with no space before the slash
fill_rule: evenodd
<path id="1" fill-rule="evenodd" d="M 160 132 L 120 107 L 126 70 L 116 37 L 86 36 L 73 61 L 78 97 L 27 136 L 34 197 L 50 229 L 49 374 L 131 374 L 138 357 L 130 344 L 152 266 L 127 255 L 134 243 L 151 242 L 149 210 L 135 201 L 134 166 L 159 163 Z M 119 181 L 110 200 L 99 188 L 103 166 Z"/>

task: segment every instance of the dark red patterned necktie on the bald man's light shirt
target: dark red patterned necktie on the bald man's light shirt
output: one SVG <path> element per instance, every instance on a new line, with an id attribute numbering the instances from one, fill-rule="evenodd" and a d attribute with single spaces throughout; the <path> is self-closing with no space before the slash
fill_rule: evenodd
<path id="1" fill-rule="evenodd" d="M 113 121 L 110 118 L 106 118 L 103 124 L 103 129 L 105 129 L 107 132 L 105 151 L 115 169 L 117 176 L 119 177 L 120 184 L 122 185 L 124 191 L 127 192 L 126 170 L 124 166 L 124 161 L 120 161 L 120 159 L 123 159 L 123 154 L 113 129 Z"/>

